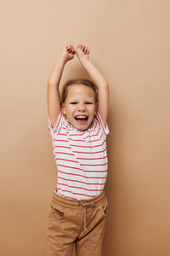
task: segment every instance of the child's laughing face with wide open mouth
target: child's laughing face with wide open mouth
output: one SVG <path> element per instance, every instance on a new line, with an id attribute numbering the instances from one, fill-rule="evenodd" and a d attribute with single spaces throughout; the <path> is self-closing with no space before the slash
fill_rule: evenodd
<path id="1" fill-rule="evenodd" d="M 94 90 L 83 84 L 71 85 L 65 103 L 62 103 L 62 111 L 77 130 L 87 130 L 97 111 Z"/>

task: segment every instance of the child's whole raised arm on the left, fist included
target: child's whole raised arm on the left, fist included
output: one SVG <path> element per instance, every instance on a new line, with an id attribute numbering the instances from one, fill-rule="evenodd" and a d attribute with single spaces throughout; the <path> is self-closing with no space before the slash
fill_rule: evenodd
<path id="1" fill-rule="evenodd" d="M 65 45 L 48 77 L 48 118 L 51 120 L 53 128 L 56 125 L 57 118 L 61 110 L 59 96 L 59 81 L 61 79 L 65 64 L 73 59 L 76 51 L 71 44 Z"/>

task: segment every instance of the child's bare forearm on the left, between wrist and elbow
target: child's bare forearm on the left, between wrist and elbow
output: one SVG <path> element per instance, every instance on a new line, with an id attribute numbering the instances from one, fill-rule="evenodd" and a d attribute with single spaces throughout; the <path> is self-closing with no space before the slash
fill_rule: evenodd
<path id="1" fill-rule="evenodd" d="M 59 87 L 59 81 L 61 79 L 65 63 L 65 58 L 61 55 L 48 76 L 48 84 L 53 84 Z"/>

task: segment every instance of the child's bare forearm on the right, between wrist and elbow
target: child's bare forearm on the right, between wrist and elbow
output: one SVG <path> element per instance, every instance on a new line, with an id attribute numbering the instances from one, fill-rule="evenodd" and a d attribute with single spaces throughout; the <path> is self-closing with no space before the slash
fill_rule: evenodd
<path id="1" fill-rule="evenodd" d="M 91 79 L 93 79 L 98 89 L 104 89 L 109 86 L 107 80 L 99 72 L 99 70 L 94 66 L 94 64 L 91 61 L 89 61 L 89 59 L 84 58 L 83 60 L 81 60 L 81 64 L 82 64 L 82 67 L 86 69 Z"/>

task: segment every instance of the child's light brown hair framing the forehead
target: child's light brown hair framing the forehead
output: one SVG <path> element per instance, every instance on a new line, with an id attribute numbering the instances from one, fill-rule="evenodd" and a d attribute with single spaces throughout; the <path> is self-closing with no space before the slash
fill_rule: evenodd
<path id="1" fill-rule="evenodd" d="M 61 96 L 60 96 L 61 102 L 65 102 L 66 96 L 68 95 L 69 87 L 74 84 L 83 84 L 92 88 L 94 90 L 95 102 L 98 102 L 97 86 L 91 80 L 84 79 L 84 78 L 69 79 L 65 82 L 61 91 Z"/>

